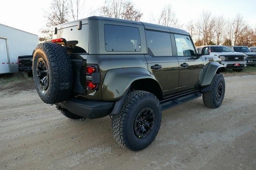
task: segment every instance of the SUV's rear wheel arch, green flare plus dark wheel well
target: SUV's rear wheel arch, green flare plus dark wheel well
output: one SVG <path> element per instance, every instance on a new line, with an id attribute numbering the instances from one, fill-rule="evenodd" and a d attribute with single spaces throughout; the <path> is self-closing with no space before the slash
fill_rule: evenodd
<path id="1" fill-rule="evenodd" d="M 102 84 L 102 100 L 119 100 L 128 90 L 144 90 L 162 99 L 162 88 L 146 68 L 108 70 Z"/>

